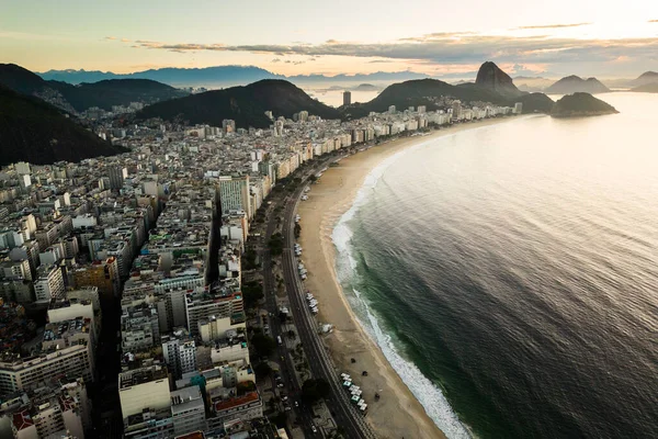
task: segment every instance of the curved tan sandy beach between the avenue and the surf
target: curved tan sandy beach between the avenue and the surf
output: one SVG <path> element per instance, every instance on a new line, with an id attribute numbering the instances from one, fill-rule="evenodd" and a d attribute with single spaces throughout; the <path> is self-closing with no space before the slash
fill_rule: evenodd
<path id="1" fill-rule="evenodd" d="M 318 184 L 311 185 L 308 200 L 299 204 L 299 244 L 309 273 L 306 288 L 319 302 L 319 320 L 334 325 L 333 333 L 325 340 L 336 364 L 354 376 L 362 387 L 368 403 L 367 419 L 379 438 L 445 438 L 445 435 L 359 324 L 337 279 L 331 234 L 351 207 L 365 177 L 387 157 L 432 138 L 506 121 L 509 119 L 457 125 L 427 136 L 396 139 L 345 157 L 338 167 L 330 167 Z M 352 358 L 355 363 L 351 362 Z M 361 375 L 364 370 L 368 376 Z M 375 393 L 382 396 L 379 401 L 374 399 Z"/>

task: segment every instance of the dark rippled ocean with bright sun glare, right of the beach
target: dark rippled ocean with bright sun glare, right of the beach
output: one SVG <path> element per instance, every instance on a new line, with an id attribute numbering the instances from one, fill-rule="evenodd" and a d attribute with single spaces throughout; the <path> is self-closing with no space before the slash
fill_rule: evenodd
<path id="1" fill-rule="evenodd" d="M 658 438 L 658 94 L 428 140 L 333 230 L 351 306 L 449 438 Z"/>

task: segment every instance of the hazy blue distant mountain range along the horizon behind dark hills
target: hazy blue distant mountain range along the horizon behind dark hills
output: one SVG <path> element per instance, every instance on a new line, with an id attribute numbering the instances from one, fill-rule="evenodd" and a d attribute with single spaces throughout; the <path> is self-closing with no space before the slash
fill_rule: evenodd
<path id="1" fill-rule="evenodd" d="M 204 68 L 167 67 L 150 69 L 134 74 L 113 74 L 111 71 L 87 70 L 48 70 L 38 74 L 45 80 L 64 81 L 68 83 L 95 82 L 105 79 L 151 79 L 175 87 L 230 87 L 245 86 L 262 79 L 286 79 L 293 83 L 327 83 L 327 82 L 365 82 L 365 81 L 399 81 L 407 79 L 427 78 L 427 75 L 412 71 L 384 72 L 366 75 L 297 75 L 286 77 L 254 66 L 217 66 Z"/>

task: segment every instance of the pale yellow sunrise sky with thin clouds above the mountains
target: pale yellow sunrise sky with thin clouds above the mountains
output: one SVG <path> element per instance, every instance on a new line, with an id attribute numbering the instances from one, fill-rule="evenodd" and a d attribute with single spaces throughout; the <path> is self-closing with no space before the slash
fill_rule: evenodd
<path id="1" fill-rule="evenodd" d="M 0 0 L 0 63 L 114 72 L 251 65 L 634 78 L 658 71 L 657 0 Z"/>

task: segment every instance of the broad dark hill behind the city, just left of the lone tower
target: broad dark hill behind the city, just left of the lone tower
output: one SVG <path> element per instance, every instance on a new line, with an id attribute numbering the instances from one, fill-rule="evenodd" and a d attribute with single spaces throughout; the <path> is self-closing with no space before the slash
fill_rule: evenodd
<path id="1" fill-rule="evenodd" d="M 264 128 L 271 125 L 265 111 L 274 116 L 292 117 L 306 110 L 322 119 L 340 119 L 338 110 L 311 99 L 302 89 L 280 79 L 265 79 L 246 87 L 207 91 L 186 98 L 173 99 L 147 106 L 137 113 L 139 119 L 180 119 L 191 124 L 222 125 L 222 121 L 236 121 L 238 127 Z"/>

